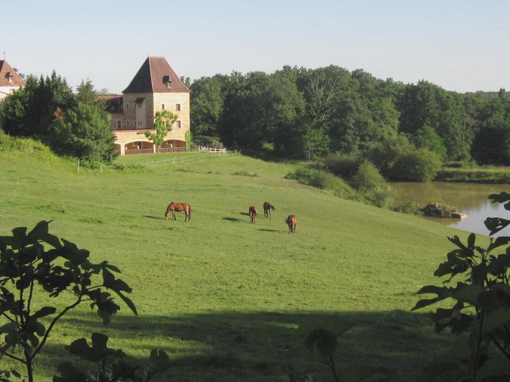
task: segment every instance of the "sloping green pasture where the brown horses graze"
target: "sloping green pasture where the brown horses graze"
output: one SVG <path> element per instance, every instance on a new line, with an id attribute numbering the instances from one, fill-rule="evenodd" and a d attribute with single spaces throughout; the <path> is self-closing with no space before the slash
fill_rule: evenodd
<path id="1" fill-rule="evenodd" d="M 51 380 L 63 345 L 99 331 L 135 359 L 167 351 L 173 366 L 161 381 L 286 381 L 288 365 L 302 366 L 290 351 L 295 328 L 328 318 L 356 323 L 341 339 L 340 367 L 419 379 L 455 339 L 434 334 L 426 311 L 410 312 L 415 292 L 439 283 L 432 274 L 452 249 L 446 236 L 468 233 L 284 179 L 293 168 L 236 155 L 77 174 L 69 162 L 0 152 L 0 235 L 53 219 L 50 232 L 122 270 L 139 312 L 123 306 L 103 326 L 78 307 L 48 339 L 37 380 Z M 191 204 L 191 223 L 184 214 L 163 219 L 171 201 Z M 271 220 L 264 201 L 276 207 Z M 260 209 L 255 225 L 250 205 Z M 295 235 L 289 214 L 298 217 Z"/>

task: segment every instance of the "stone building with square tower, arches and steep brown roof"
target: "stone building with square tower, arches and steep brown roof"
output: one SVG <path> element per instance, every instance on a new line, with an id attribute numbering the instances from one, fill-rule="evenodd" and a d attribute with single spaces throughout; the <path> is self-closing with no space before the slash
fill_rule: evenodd
<path id="1" fill-rule="evenodd" d="M 122 95 L 101 96 L 112 117 L 115 147 L 120 155 L 155 153 L 145 135 L 154 130 L 156 112 L 169 110 L 178 116 L 160 152 L 186 151 L 190 129 L 190 91 L 164 57 L 149 56 Z"/>

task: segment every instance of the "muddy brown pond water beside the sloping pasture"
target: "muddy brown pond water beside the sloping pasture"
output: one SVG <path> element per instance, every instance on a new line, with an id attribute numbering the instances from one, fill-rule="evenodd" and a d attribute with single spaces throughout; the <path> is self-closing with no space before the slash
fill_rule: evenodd
<path id="1" fill-rule="evenodd" d="M 390 185 L 399 202 L 414 201 L 423 207 L 427 202 L 435 200 L 457 207 L 469 216 L 462 221 L 438 217 L 426 217 L 426 219 L 464 231 L 489 235 L 489 230 L 483 224 L 487 217 L 510 219 L 510 211 L 506 211 L 502 204 L 492 203 L 487 199 L 490 194 L 510 192 L 507 184 L 395 182 Z M 495 236 L 510 236 L 510 227 L 499 231 Z"/>

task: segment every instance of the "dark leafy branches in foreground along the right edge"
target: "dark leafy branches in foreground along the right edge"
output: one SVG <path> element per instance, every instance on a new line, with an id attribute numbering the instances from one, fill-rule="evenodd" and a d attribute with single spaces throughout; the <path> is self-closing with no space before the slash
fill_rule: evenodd
<path id="1" fill-rule="evenodd" d="M 492 194 L 493 203 L 504 203 L 510 209 L 510 194 Z M 510 224 L 500 217 L 484 222 L 490 235 Z M 457 236 L 448 237 L 455 249 L 450 251 L 434 276 L 447 277 L 443 284 L 456 281 L 455 286 L 426 285 L 419 294 L 433 294 L 420 299 L 412 310 L 443 302 L 432 315 L 435 332 L 446 328 L 452 334 L 464 335 L 465 346 L 441 354 L 429 367 L 431 374 L 449 372 L 443 380 L 505 381 L 510 378 L 510 237 L 491 239 L 487 248 L 476 245 L 475 234 L 467 243 Z M 446 303 L 453 304 L 446 308 Z M 453 357 L 452 357 L 453 356 Z M 456 356 L 456 357 L 455 357 Z"/>

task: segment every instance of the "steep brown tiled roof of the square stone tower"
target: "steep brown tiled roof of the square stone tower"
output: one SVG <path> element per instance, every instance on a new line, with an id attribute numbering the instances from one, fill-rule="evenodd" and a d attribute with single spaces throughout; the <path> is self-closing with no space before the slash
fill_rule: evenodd
<path id="1" fill-rule="evenodd" d="M 189 93 L 164 57 L 149 56 L 122 93 Z"/>

